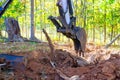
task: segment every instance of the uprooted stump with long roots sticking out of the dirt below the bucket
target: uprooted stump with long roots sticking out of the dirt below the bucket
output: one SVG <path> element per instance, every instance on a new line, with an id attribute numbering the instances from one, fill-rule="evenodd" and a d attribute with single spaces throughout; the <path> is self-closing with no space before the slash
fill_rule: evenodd
<path id="1" fill-rule="evenodd" d="M 65 54 L 57 53 L 57 50 L 54 49 L 54 45 L 52 44 L 52 41 L 51 41 L 49 35 L 47 34 L 46 30 L 43 29 L 43 32 L 44 32 L 44 34 L 45 34 L 45 36 L 46 36 L 46 38 L 47 38 L 47 40 L 48 40 L 49 47 L 50 47 L 50 50 L 51 50 L 51 55 L 52 55 L 52 56 L 46 55 L 46 57 L 49 59 L 50 64 L 51 64 L 52 67 L 56 70 L 56 72 L 58 73 L 58 75 L 59 75 L 62 79 L 64 79 L 64 80 L 80 80 L 80 78 L 79 78 L 78 75 L 74 75 L 74 76 L 72 76 L 72 77 L 68 77 L 67 75 L 65 75 L 64 73 L 62 73 L 59 69 L 56 68 L 56 66 L 58 66 L 58 64 L 59 64 L 59 63 L 56 63 L 56 61 L 57 61 L 57 59 L 58 59 L 58 56 L 59 56 L 59 59 L 60 59 L 60 58 L 63 59 L 63 58 L 65 58 Z M 60 56 L 59 54 L 60 54 L 61 56 Z M 57 56 L 57 55 L 58 55 L 58 56 Z M 54 56 L 56 56 L 57 59 L 55 59 Z M 54 59 L 52 59 L 53 57 L 54 57 Z M 76 58 L 76 57 L 74 57 L 74 56 L 72 56 L 72 55 L 70 55 L 70 54 L 69 54 L 68 57 L 70 57 L 70 58 L 73 60 L 72 66 L 75 65 L 75 66 L 77 67 L 77 66 L 85 66 L 85 65 L 88 64 L 87 61 L 84 60 L 84 59 L 82 59 L 82 58 L 79 58 L 79 59 L 78 59 L 78 58 Z M 62 60 L 62 59 L 60 59 L 60 60 Z M 68 58 L 66 57 L 66 59 L 68 59 Z M 65 64 L 67 64 L 67 63 L 69 62 L 69 59 L 68 59 L 68 60 L 66 60 L 66 59 L 63 59 L 63 60 L 65 60 L 65 62 L 63 62 L 62 65 L 65 65 Z M 53 62 L 53 61 L 54 61 L 54 62 Z M 55 65 L 54 63 L 56 63 L 56 65 Z"/>

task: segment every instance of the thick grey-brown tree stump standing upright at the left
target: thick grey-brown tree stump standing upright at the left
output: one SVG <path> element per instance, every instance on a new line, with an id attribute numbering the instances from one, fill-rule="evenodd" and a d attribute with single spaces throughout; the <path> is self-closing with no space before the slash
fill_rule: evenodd
<path id="1" fill-rule="evenodd" d="M 20 27 L 17 20 L 14 18 L 6 18 L 5 25 L 8 33 L 8 42 L 24 42 L 27 40 L 21 36 Z"/>

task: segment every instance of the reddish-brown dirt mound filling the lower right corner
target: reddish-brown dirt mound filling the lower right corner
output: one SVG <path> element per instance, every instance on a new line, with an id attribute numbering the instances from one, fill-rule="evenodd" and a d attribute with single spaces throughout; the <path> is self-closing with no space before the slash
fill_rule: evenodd
<path id="1" fill-rule="evenodd" d="M 79 75 L 80 80 L 120 80 L 120 55 L 98 64 L 62 69 L 69 76 Z"/>

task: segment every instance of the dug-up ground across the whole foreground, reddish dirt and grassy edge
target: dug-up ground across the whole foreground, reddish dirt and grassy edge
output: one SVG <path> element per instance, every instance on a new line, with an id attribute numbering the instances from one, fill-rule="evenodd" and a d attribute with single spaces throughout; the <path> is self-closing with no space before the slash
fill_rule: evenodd
<path id="1" fill-rule="evenodd" d="M 50 53 L 47 43 L 14 43 L 12 48 L 11 43 L 2 44 L 8 45 L 8 51 L 4 53 L 27 59 L 25 69 L 16 68 L 9 80 L 120 80 L 120 49 L 103 49 L 87 44 L 85 57 L 82 59 L 88 64 L 76 65 L 73 58 L 79 57 L 70 45 L 55 45 L 54 53 Z M 17 45 L 22 45 L 22 48 L 17 49 Z M 31 45 L 34 45 L 35 50 L 29 47 Z"/>

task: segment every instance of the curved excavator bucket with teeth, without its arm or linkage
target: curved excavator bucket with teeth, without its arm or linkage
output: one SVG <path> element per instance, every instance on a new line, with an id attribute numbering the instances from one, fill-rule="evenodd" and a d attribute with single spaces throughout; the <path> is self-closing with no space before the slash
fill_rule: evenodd
<path id="1" fill-rule="evenodd" d="M 74 42 L 74 49 L 76 53 L 79 54 L 79 56 L 84 56 L 85 48 L 86 48 L 86 42 L 87 42 L 87 36 L 86 31 L 84 28 L 76 27 L 76 38 L 72 39 Z"/>

